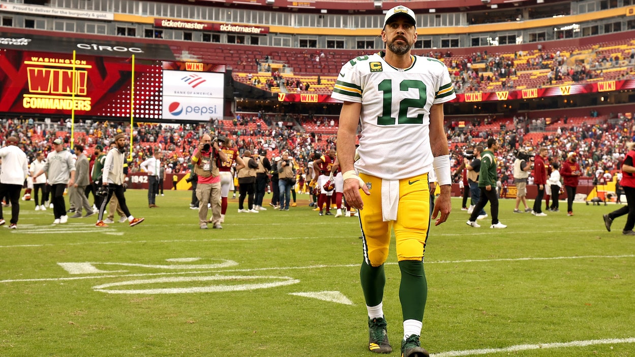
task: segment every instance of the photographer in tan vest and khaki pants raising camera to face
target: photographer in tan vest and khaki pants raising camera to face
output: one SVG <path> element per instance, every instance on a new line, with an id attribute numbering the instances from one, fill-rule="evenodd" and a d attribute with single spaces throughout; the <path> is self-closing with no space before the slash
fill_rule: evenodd
<path id="1" fill-rule="evenodd" d="M 192 170 L 196 173 L 196 197 L 199 199 L 199 227 L 207 229 L 208 204 L 211 204 L 211 223 L 213 228 L 220 225 L 220 163 L 227 161 L 227 155 L 220 150 L 218 142 L 204 134 L 198 147 L 192 154 Z"/>

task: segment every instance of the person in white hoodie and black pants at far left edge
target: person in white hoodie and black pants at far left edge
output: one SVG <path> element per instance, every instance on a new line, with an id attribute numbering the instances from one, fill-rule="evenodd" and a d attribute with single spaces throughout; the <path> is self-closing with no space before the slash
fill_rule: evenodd
<path id="1" fill-rule="evenodd" d="M 27 155 L 18 148 L 18 138 L 10 136 L 6 140 L 6 146 L 0 148 L 2 170 L 0 171 L 0 197 L 8 193 L 11 200 L 11 222 L 9 229 L 18 228 L 18 216 L 20 215 L 20 192 L 24 185 L 24 179 L 29 174 L 27 167 Z M 4 216 L 0 205 L 0 226 L 3 225 Z"/>

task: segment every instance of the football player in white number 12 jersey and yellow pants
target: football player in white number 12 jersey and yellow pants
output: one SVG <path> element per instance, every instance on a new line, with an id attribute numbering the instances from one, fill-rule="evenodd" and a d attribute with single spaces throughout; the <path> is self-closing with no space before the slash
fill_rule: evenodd
<path id="1" fill-rule="evenodd" d="M 436 172 L 440 186 L 432 211 L 438 225 L 451 211 L 443 103 L 456 96 L 443 62 L 411 54 L 416 25 L 409 8 L 388 10 L 381 31 L 385 50 L 345 63 L 331 94 L 344 101 L 337 157 L 344 172 L 344 197 L 359 210 L 368 349 L 392 352 L 382 304 L 384 263 L 394 230 L 401 271 L 402 357 L 428 356 L 420 346 L 427 298 L 423 260 L 431 223 L 428 172 Z M 359 160 L 354 162 L 360 122 Z"/>

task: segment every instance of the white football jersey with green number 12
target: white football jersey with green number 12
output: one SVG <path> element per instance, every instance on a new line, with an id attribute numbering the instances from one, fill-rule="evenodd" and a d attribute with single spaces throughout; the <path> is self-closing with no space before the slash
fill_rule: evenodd
<path id="1" fill-rule="evenodd" d="M 394 68 L 383 52 L 359 56 L 342 67 L 331 97 L 362 103 L 356 169 L 385 179 L 432 171 L 430 108 L 456 97 L 448 68 L 434 58 L 411 56 Z"/>

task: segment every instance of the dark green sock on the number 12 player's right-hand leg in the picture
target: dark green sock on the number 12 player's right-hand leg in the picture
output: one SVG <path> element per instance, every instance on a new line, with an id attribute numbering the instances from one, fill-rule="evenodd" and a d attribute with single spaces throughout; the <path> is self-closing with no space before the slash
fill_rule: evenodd
<path id="1" fill-rule="evenodd" d="M 422 261 L 400 261 L 401 285 L 399 300 L 403 320 L 424 320 L 425 300 L 428 296 L 428 284 L 425 280 Z"/>

